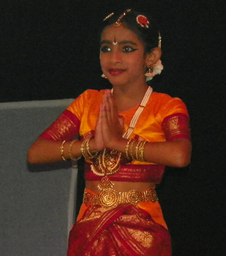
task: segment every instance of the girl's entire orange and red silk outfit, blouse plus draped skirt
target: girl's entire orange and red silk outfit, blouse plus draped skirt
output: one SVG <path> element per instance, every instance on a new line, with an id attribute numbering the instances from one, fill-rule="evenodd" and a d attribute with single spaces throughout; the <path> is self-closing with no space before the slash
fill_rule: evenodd
<path id="1" fill-rule="evenodd" d="M 104 90 L 87 90 L 42 133 L 53 140 L 71 140 L 80 134 L 94 136 Z M 138 106 L 137 106 L 138 107 Z M 127 130 L 137 107 L 120 115 Z M 130 139 L 148 142 L 190 139 L 186 106 L 178 98 L 152 93 Z M 88 164 L 89 167 L 90 164 Z M 142 167 L 141 167 L 142 165 Z M 151 166 L 151 167 L 150 167 Z M 155 171 L 154 171 L 155 170 Z M 159 184 L 164 166 L 133 161 L 121 166 L 109 178 L 115 181 L 153 182 Z M 99 180 L 88 168 L 86 180 Z M 158 202 L 119 204 L 113 209 L 84 204 L 78 221 L 71 229 L 67 256 L 171 256 L 170 235 Z"/>

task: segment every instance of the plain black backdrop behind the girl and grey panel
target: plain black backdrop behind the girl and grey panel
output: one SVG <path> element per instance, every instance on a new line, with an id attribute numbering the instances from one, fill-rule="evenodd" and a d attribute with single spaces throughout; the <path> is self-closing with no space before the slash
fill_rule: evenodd
<path id="1" fill-rule="evenodd" d="M 161 28 L 164 65 L 152 85 L 185 102 L 192 129 L 191 164 L 168 167 L 157 188 L 173 256 L 225 255 L 223 0 L 137 2 L 1 1 L 0 102 L 75 98 L 109 87 L 100 77 L 102 20 L 119 8 L 151 12 Z"/>

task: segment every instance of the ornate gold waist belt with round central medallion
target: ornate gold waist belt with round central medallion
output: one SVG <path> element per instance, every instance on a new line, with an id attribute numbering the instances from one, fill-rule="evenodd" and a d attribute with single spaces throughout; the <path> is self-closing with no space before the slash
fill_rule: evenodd
<path id="1" fill-rule="evenodd" d="M 118 193 L 115 190 L 105 190 L 104 192 L 92 195 L 85 192 L 83 203 L 87 206 L 100 205 L 104 207 L 117 206 L 118 204 L 139 204 L 141 202 L 158 201 L 155 190 L 137 191 L 131 190 L 129 192 Z"/>

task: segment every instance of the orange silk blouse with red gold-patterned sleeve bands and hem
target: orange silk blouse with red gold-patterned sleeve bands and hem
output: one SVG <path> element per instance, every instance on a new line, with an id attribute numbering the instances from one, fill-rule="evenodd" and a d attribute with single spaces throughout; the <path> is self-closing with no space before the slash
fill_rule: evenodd
<path id="1" fill-rule="evenodd" d="M 99 106 L 105 90 L 86 90 L 56 119 L 41 137 L 54 140 L 71 140 L 80 134 L 82 139 L 93 137 L 99 115 Z M 120 113 L 127 130 L 138 105 Z M 130 139 L 148 142 L 173 141 L 178 138 L 190 140 L 188 111 L 182 100 L 153 92 L 141 113 Z M 160 183 L 165 166 L 150 162 L 123 162 L 119 171 L 111 175 L 115 181 L 137 181 Z M 100 180 L 90 170 L 87 162 L 86 180 Z"/>

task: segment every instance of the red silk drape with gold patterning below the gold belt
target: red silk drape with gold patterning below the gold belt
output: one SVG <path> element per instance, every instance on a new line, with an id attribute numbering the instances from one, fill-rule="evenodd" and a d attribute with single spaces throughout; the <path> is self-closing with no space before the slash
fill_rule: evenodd
<path id="1" fill-rule="evenodd" d="M 87 208 L 69 236 L 67 256 L 171 256 L 170 234 L 132 204 Z"/>

